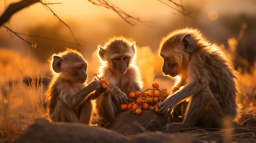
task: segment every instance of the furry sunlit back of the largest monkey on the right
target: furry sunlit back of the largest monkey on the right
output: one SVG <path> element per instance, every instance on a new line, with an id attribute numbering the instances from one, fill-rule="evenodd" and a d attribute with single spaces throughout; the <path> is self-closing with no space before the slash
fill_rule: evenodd
<path id="1" fill-rule="evenodd" d="M 206 72 L 205 75 L 209 76 L 209 88 L 219 101 L 223 113 L 236 117 L 240 96 L 238 73 L 222 49 L 216 44 L 210 45 L 199 52 L 198 56 L 205 68 L 201 72 Z"/>

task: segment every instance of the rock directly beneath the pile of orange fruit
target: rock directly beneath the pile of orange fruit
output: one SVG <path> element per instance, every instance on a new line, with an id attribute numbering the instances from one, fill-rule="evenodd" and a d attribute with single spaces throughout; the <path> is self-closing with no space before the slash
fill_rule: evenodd
<path id="1" fill-rule="evenodd" d="M 119 113 L 109 129 L 121 134 L 133 135 L 143 133 L 147 125 L 158 124 L 163 126 L 167 122 L 168 119 L 165 115 L 157 114 L 154 111 L 143 110 L 140 115 L 136 115 L 128 110 Z"/>

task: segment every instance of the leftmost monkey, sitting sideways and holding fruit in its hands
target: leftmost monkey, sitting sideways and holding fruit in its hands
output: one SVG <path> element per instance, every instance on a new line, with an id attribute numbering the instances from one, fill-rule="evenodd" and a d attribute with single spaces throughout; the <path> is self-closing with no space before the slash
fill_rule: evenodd
<path id="1" fill-rule="evenodd" d="M 67 48 L 53 54 L 52 81 L 46 91 L 47 112 L 52 121 L 77 122 L 89 124 L 92 99 L 96 99 L 105 88 L 100 81 L 92 81 L 88 86 L 87 63 L 76 50 Z M 95 90 L 95 92 L 93 92 Z M 90 94 L 93 92 L 92 94 Z"/>

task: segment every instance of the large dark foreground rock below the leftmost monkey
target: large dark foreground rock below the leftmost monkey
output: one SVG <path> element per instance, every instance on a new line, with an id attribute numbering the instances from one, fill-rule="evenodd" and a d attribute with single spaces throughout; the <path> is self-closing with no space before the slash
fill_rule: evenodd
<path id="1" fill-rule="evenodd" d="M 117 132 L 80 123 L 50 123 L 37 119 L 13 143 L 127 143 Z"/>

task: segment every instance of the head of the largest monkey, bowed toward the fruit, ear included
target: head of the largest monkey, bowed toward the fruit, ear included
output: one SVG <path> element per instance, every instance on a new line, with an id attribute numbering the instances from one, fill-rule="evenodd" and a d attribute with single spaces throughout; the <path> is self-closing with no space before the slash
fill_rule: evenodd
<path id="1" fill-rule="evenodd" d="M 190 34 L 164 37 L 160 43 L 160 55 L 164 59 L 162 72 L 175 77 L 186 72 L 189 57 L 195 45 Z"/>

